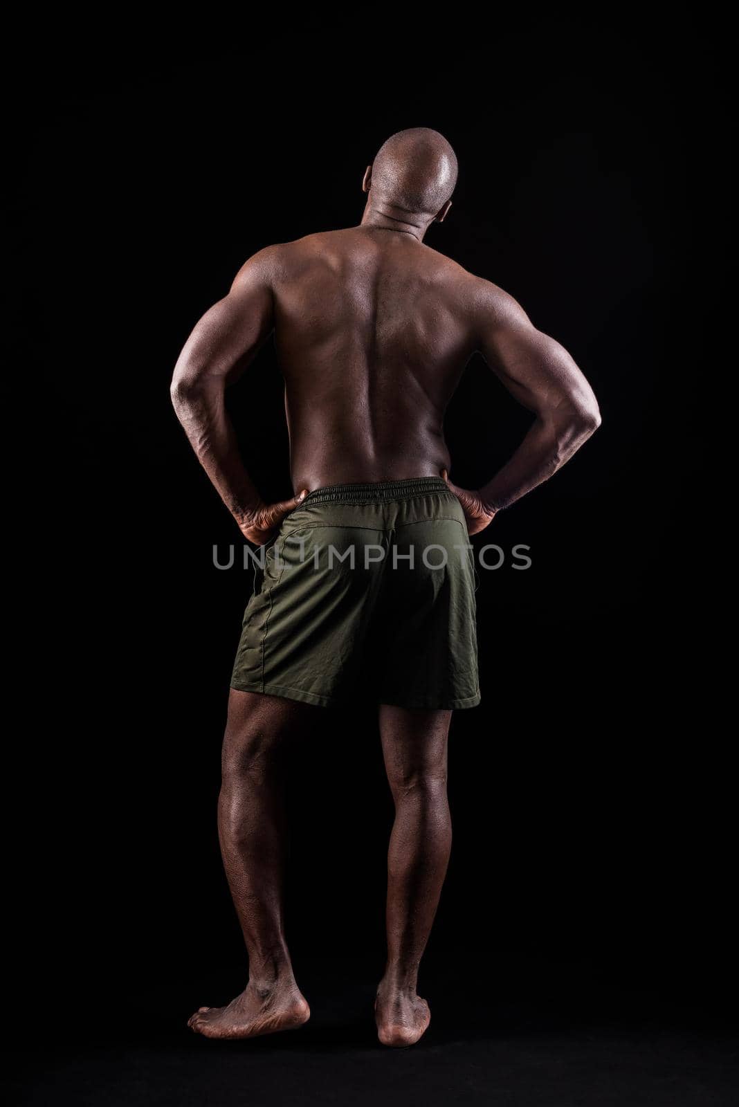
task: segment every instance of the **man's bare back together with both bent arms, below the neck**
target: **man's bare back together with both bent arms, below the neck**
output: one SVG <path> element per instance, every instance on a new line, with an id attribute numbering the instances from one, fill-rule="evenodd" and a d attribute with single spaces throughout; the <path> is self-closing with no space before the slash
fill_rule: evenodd
<path id="1" fill-rule="evenodd" d="M 198 321 L 170 389 L 250 540 L 269 528 L 248 521 L 259 494 L 223 393 L 270 335 L 285 380 L 295 492 L 448 469 L 444 413 L 476 350 L 535 416 L 480 489 L 483 505 L 498 509 L 545 480 L 600 425 L 593 390 L 568 351 L 507 292 L 416 236 L 360 224 L 268 246 Z"/>

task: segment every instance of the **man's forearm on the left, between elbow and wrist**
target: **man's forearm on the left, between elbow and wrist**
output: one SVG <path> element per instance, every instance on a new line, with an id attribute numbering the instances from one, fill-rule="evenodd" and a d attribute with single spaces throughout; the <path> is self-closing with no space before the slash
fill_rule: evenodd
<path id="1" fill-rule="evenodd" d="M 171 386 L 171 402 L 179 422 L 229 511 L 242 526 L 260 506 L 261 497 L 247 473 L 233 424 L 226 411 L 223 386 L 186 384 Z"/>

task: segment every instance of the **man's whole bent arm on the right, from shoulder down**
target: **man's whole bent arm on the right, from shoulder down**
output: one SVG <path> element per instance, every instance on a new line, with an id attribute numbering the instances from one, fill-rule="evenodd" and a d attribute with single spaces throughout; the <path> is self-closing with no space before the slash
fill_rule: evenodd
<path id="1" fill-rule="evenodd" d="M 478 490 L 490 521 L 496 511 L 556 473 L 601 425 L 601 413 L 568 351 L 537 330 L 521 306 L 490 281 L 478 279 L 473 327 L 477 349 L 488 365 L 535 416 L 512 457 Z"/>

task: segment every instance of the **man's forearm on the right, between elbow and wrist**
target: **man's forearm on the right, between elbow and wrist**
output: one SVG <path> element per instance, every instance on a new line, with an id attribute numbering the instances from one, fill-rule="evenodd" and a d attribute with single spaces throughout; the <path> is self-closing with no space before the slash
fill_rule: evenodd
<path id="1" fill-rule="evenodd" d="M 538 416 L 513 456 L 479 489 L 483 505 L 495 510 L 509 507 L 548 480 L 580 449 L 600 423 L 597 408 L 560 422 Z"/>

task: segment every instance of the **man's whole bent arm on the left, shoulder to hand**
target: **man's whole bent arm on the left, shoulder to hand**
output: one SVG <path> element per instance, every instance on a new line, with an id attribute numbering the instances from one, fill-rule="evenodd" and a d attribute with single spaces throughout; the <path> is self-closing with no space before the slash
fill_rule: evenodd
<path id="1" fill-rule="evenodd" d="M 274 328 L 272 272 L 279 247 L 254 254 L 222 300 L 196 323 L 177 359 L 171 402 L 212 485 L 241 534 L 261 545 L 302 496 L 264 504 L 241 459 L 226 410 L 226 389 L 247 369 Z"/>

